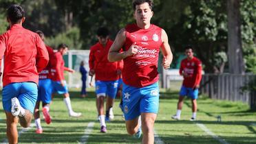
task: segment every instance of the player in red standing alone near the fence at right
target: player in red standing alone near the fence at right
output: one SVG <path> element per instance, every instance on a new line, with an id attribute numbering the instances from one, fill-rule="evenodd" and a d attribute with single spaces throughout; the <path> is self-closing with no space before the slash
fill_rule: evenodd
<path id="1" fill-rule="evenodd" d="M 188 96 L 191 98 L 193 112 L 190 120 L 195 121 L 198 107 L 196 99 L 198 99 L 198 88 L 202 79 L 202 64 L 198 58 L 193 56 L 193 50 L 191 46 L 185 47 L 185 54 L 186 58 L 182 60 L 180 64 L 180 75 L 183 75 L 184 80 L 182 83 L 182 88 L 180 89 L 180 97 L 176 115 L 173 115 L 171 118 L 177 120 L 180 119 L 183 99 L 185 96 Z"/>

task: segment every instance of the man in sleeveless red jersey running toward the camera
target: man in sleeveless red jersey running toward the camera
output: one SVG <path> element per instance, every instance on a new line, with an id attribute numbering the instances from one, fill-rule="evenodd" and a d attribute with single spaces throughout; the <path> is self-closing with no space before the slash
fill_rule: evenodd
<path id="1" fill-rule="evenodd" d="M 140 137 L 142 143 L 153 143 L 153 125 L 158 113 L 158 53 L 162 66 L 169 69 L 173 55 L 164 29 L 151 24 L 152 0 L 133 1 L 136 23 L 121 29 L 109 50 L 110 62 L 124 60 L 122 69 L 122 111 L 128 134 Z M 120 51 L 123 47 L 123 52 Z"/>

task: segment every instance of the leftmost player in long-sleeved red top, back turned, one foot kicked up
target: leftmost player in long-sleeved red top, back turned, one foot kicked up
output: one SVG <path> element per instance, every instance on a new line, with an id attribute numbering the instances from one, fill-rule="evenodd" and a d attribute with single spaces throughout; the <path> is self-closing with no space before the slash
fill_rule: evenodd
<path id="1" fill-rule="evenodd" d="M 39 35 L 22 27 L 24 16 L 21 6 L 11 5 L 7 10 L 10 29 L 0 36 L 0 64 L 4 59 L 2 101 L 9 143 L 18 143 L 18 121 L 24 128 L 31 123 L 39 73 L 49 61 Z"/>

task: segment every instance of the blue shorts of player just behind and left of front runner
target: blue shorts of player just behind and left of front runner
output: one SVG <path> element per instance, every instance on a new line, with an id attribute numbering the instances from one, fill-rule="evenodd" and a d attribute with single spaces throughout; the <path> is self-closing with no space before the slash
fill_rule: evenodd
<path id="1" fill-rule="evenodd" d="M 99 96 L 108 96 L 112 99 L 116 98 L 117 88 L 118 88 L 118 80 L 114 81 L 100 81 L 97 80 L 95 82 L 96 86 L 96 95 Z"/>

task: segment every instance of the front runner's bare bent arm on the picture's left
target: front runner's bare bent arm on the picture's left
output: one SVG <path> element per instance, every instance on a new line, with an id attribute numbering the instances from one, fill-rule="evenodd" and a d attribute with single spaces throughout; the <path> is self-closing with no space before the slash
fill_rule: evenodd
<path id="1" fill-rule="evenodd" d="M 116 39 L 114 40 L 114 43 L 111 45 L 109 49 L 109 54 L 107 56 L 107 59 L 109 62 L 116 62 L 120 61 L 127 57 L 127 54 L 125 51 L 119 52 L 122 46 L 125 44 L 125 29 L 120 29 L 118 34 L 116 35 Z"/>

